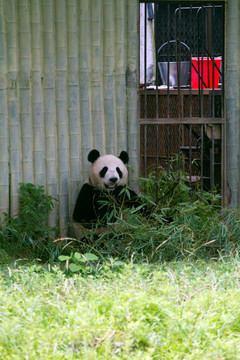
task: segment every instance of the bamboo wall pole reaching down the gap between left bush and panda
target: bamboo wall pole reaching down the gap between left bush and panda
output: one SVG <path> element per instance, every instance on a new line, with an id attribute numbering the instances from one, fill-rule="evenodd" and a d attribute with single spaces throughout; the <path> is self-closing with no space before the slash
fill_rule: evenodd
<path id="1" fill-rule="evenodd" d="M 55 1 L 56 23 L 56 116 L 58 136 L 59 220 L 65 234 L 69 215 L 69 143 L 67 121 L 67 21 L 66 0 Z"/>

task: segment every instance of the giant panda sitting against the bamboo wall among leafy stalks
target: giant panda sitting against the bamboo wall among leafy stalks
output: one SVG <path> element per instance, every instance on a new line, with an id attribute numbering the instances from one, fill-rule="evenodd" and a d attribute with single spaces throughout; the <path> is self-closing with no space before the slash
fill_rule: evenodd
<path id="1" fill-rule="evenodd" d="M 135 191 L 127 187 L 128 170 L 125 164 L 128 160 L 126 151 L 122 151 L 119 157 L 110 154 L 100 156 L 96 149 L 89 152 L 88 161 L 92 165 L 74 207 L 73 219 L 76 222 L 85 227 L 91 227 L 96 222 L 106 223 L 113 202 L 124 207 L 141 205 Z"/>

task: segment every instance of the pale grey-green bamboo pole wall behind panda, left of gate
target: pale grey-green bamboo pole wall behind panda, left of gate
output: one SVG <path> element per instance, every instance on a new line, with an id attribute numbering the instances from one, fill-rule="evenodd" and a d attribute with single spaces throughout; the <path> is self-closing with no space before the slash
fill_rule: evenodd
<path id="1" fill-rule="evenodd" d="M 127 150 L 138 173 L 138 7 L 0 0 L 0 213 L 17 212 L 19 183 L 43 185 L 66 234 L 92 148 Z"/>

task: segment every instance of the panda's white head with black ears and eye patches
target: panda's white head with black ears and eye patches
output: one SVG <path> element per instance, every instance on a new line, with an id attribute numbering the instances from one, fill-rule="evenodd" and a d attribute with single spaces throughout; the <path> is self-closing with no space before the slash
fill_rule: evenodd
<path id="1" fill-rule="evenodd" d="M 102 155 L 98 150 L 91 150 L 88 161 L 92 163 L 88 183 L 101 190 L 114 190 L 118 185 L 126 185 L 128 171 L 124 164 L 128 162 L 128 153 L 122 151 L 119 157 Z"/>

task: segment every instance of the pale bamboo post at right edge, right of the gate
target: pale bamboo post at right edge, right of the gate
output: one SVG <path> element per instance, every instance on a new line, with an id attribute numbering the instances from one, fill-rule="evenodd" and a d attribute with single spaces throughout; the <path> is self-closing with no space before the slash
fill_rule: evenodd
<path id="1" fill-rule="evenodd" d="M 228 4 L 226 39 L 226 173 L 227 202 L 240 206 L 240 3 Z"/>

